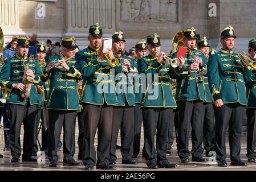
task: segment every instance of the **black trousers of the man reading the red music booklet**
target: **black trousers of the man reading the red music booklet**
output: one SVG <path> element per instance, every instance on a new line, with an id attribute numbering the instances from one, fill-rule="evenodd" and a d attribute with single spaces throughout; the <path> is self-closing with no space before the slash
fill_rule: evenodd
<path id="1" fill-rule="evenodd" d="M 192 157 L 202 158 L 202 129 L 204 106 L 202 101 L 178 101 L 180 122 L 178 122 L 178 156 L 188 158 L 189 129 L 192 126 Z"/>

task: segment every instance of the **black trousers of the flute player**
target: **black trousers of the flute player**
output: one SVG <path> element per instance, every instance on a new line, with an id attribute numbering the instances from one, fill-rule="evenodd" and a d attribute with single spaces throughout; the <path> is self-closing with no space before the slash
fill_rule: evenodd
<path id="1" fill-rule="evenodd" d="M 58 161 L 58 142 L 63 127 L 63 154 L 64 160 L 73 160 L 75 152 L 75 110 L 48 110 L 49 113 L 49 138 L 48 159 Z"/>

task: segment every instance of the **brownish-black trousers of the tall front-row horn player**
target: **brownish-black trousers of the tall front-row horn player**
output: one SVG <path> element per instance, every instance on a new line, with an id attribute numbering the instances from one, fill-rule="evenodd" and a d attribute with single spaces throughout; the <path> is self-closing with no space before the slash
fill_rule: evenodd
<path id="1" fill-rule="evenodd" d="M 111 145 L 113 107 L 83 104 L 83 163 L 95 164 L 94 138 L 97 130 L 97 166 L 108 164 Z"/>

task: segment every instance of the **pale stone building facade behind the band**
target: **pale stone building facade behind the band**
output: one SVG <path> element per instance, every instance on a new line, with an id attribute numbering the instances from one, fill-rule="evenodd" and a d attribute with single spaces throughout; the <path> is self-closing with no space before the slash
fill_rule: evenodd
<path id="1" fill-rule="evenodd" d="M 48 0 L 49 1 L 49 0 Z M 38 34 L 38 40 L 59 42 L 63 35 L 77 38 L 81 48 L 90 24 L 99 22 L 105 36 L 116 30 L 124 32 L 127 48 L 148 34 L 158 32 L 162 49 L 169 52 L 172 38 L 183 28 L 194 27 L 201 37 L 219 45 L 220 31 L 232 24 L 237 34 L 237 47 L 246 49 L 255 38 L 256 4 L 254 0 L 0 0 L 0 26 L 9 42 L 13 35 Z M 45 6 L 45 16 L 36 17 L 39 3 Z M 215 3 L 217 16 L 209 16 L 209 4 Z M 42 5 L 42 4 L 40 4 Z M 248 13 L 250 12 L 250 13 Z"/>

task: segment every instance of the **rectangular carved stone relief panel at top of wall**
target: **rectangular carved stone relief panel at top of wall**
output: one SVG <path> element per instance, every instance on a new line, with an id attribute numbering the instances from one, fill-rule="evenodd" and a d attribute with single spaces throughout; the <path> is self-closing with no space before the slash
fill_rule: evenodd
<path id="1" fill-rule="evenodd" d="M 177 22 L 177 0 L 120 0 L 121 20 Z"/>

